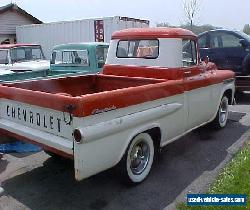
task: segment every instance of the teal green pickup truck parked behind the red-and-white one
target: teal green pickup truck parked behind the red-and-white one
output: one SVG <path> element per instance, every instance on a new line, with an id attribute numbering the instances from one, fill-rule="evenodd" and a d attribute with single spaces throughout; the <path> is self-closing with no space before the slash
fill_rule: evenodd
<path id="1" fill-rule="evenodd" d="M 55 46 L 49 69 L 5 73 L 0 82 L 38 80 L 76 74 L 91 74 L 102 70 L 109 44 L 100 42 L 72 43 Z"/>

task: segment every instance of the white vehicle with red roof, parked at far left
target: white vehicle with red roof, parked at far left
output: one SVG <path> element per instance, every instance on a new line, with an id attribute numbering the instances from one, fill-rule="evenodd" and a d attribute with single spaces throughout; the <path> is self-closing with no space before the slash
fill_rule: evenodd
<path id="1" fill-rule="evenodd" d="M 6 44 L 0 45 L 0 72 L 24 72 L 49 69 L 40 45 Z"/>

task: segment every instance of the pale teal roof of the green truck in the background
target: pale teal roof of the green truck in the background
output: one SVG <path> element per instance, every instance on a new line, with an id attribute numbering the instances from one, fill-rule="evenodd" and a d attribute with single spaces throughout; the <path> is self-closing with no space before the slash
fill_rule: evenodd
<path id="1" fill-rule="evenodd" d="M 81 43 L 69 43 L 69 44 L 60 44 L 53 47 L 53 50 L 62 50 L 62 49 L 74 49 L 80 50 L 83 48 L 96 47 L 96 46 L 109 46 L 108 43 L 105 42 L 81 42 Z"/>

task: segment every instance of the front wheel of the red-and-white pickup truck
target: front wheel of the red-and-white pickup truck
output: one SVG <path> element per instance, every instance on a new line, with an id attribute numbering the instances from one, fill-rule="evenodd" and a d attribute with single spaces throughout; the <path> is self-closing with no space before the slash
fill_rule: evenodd
<path id="1" fill-rule="evenodd" d="M 217 128 L 224 128 L 227 124 L 229 112 L 228 98 L 223 96 L 220 102 L 220 106 L 215 119 L 212 121 L 212 125 Z"/>

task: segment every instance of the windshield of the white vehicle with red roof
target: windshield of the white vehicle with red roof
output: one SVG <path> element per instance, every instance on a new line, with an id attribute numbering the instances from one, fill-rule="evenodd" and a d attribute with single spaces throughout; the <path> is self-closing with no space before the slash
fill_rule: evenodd
<path id="1" fill-rule="evenodd" d="M 12 62 L 45 60 L 40 46 L 16 47 L 10 50 Z"/>

